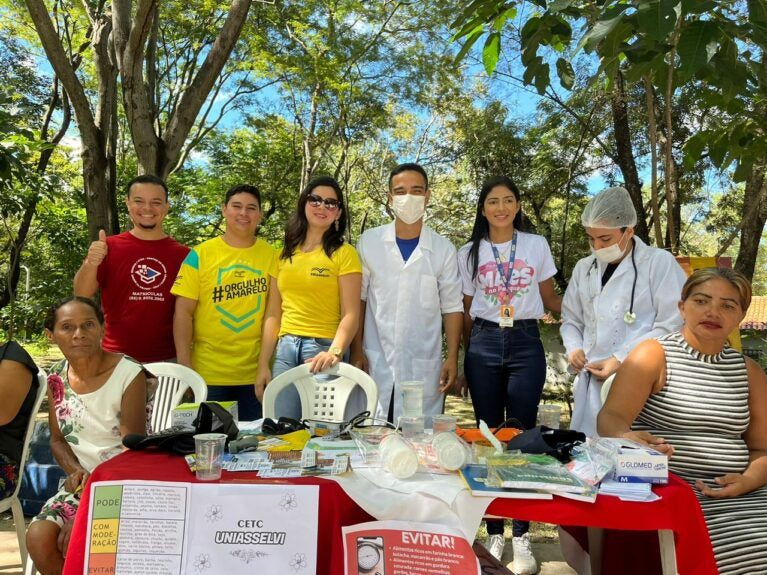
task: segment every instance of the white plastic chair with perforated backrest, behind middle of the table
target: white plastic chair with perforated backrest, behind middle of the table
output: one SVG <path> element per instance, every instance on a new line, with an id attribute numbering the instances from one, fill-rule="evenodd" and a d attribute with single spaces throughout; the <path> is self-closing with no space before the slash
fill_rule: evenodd
<path id="1" fill-rule="evenodd" d="M 337 375 L 335 379 L 316 378 L 309 364 L 299 365 L 275 377 L 264 392 L 264 417 L 275 416 L 274 403 L 281 390 L 295 385 L 301 398 L 301 417 L 319 421 L 343 421 L 344 409 L 355 387 L 367 396 L 365 407 L 371 415 L 378 404 L 378 386 L 367 373 L 348 363 L 338 363 L 322 375 Z"/>

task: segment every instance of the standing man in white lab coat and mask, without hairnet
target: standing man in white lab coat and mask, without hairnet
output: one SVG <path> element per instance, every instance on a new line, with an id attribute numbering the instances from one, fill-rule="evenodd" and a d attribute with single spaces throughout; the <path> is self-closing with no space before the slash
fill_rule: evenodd
<path id="1" fill-rule="evenodd" d="M 402 415 L 403 381 L 423 381 L 423 413 L 442 413 L 455 384 L 463 304 L 455 247 L 423 223 L 429 183 L 418 164 L 389 175 L 390 224 L 367 230 L 362 260 L 361 330 L 351 361 L 378 385 L 377 416 Z M 447 358 L 442 360 L 442 328 Z"/>

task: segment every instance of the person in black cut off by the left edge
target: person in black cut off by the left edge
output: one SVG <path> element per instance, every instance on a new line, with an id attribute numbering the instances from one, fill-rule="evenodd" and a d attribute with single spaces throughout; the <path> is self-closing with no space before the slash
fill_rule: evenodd
<path id="1" fill-rule="evenodd" d="M 37 397 L 37 366 L 15 341 L 0 345 L 0 499 L 18 484 L 24 435 Z"/>

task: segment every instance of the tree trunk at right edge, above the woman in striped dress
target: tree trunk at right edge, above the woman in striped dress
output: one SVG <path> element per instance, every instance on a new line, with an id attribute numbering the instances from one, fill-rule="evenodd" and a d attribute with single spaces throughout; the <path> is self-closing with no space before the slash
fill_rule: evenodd
<path id="1" fill-rule="evenodd" d="M 762 239 L 764 223 L 767 220 L 767 180 L 763 161 L 754 166 L 746 181 L 741 217 L 740 248 L 735 269 L 748 279 L 753 279 L 759 240 Z"/>

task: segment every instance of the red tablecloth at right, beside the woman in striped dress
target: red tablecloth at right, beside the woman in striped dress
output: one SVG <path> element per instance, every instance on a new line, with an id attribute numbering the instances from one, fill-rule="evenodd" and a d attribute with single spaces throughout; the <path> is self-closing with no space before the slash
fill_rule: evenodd
<path id="1" fill-rule="evenodd" d="M 653 503 L 621 501 L 604 495 L 593 504 L 561 497 L 552 501 L 496 499 L 487 513 L 555 525 L 629 531 L 670 529 L 676 541 L 679 575 L 716 575 L 718 571 L 708 529 L 692 488 L 672 474 L 668 485 L 656 487 L 655 492 L 661 499 Z M 602 572 L 607 575 L 660 572 L 657 570 L 660 565 L 657 549 L 656 533 L 640 535 L 622 531 L 607 534 Z M 652 556 L 643 557 L 645 554 Z M 653 563 L 656 569 L 649 571 L 645 560 Z"/>

